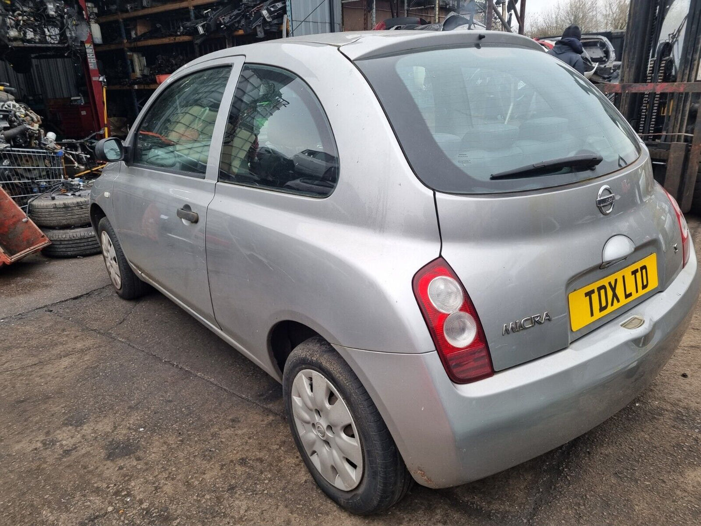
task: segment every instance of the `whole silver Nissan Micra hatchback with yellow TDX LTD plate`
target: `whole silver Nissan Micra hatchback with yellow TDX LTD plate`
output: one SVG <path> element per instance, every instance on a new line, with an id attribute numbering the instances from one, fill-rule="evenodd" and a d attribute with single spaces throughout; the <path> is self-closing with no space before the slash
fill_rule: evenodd
<path id="1" fill-rule="evenodd" d="M 118 295 L 152 285 L 281 381 L 306 467 L 354 513 L 592 429 L 658 374 L 699 294 L 644 144 L 523 36 L 217 51 L 97 154 Z"/>

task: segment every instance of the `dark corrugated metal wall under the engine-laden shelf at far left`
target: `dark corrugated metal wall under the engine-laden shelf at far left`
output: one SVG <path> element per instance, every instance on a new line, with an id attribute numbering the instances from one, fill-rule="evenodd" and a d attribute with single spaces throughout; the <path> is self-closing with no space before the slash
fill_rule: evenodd
<path id="1" fill-rule="evenodd" d="M 32 71 L 22 75 L 5 61 L 0 61 L 0 82 L 7 82 L 18 90 L 18 100 L 40 96 L 60 99 L 80 95 L 73 60 L 70 58 L 36 58 Z"/>

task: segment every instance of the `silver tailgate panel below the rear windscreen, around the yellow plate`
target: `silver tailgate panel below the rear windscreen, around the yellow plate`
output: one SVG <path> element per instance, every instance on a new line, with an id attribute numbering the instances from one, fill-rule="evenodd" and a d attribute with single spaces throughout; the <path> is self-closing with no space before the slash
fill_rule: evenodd
<path id="1" fill-rule="evenodd" d="M 596 205 L 601 179 L 617 197 L 610 215 Z M 608 323 L 604 317 L 571 332 L 569 292 L 653 252 L 660 288 L 681 269 L 681 257 L 672 250 L 681 240 L 679 226 L 669 199 L 653 181 L 646 153 L 616 173 L 560 189 L 498 198 L 436 194 L 436 204 L 441 254 L 475 304 L 494 370 L 564 349 Z M 634 253 L 601 270 L 602 249 L 618 234 L 632 239 Z M 503 323 L 538 311 L 548 311 L 552 321 L 503 337 Z"/>

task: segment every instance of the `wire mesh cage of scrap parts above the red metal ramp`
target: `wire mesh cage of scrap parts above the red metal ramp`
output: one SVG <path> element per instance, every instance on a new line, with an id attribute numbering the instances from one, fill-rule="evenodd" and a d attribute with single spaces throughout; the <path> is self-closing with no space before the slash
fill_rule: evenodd
<path id="1" fill-rule="evenodd" d="M 26 211 L 29 199 L 61 184 L 62 154 L 41 149 L 0 149 L 0 187 Z"/>

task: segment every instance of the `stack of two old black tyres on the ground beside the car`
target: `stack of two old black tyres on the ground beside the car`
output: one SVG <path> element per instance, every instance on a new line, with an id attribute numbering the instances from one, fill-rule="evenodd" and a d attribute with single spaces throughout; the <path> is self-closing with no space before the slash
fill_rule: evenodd
<path id="1" fill-rule="evenodd" d="M 29 201 L 28 213 L 51 241 L 43 249 L 44 255 L 78 257 L 100 253 L 100 243 L 90 226 L 89 189 L 42 194 Z"/>

